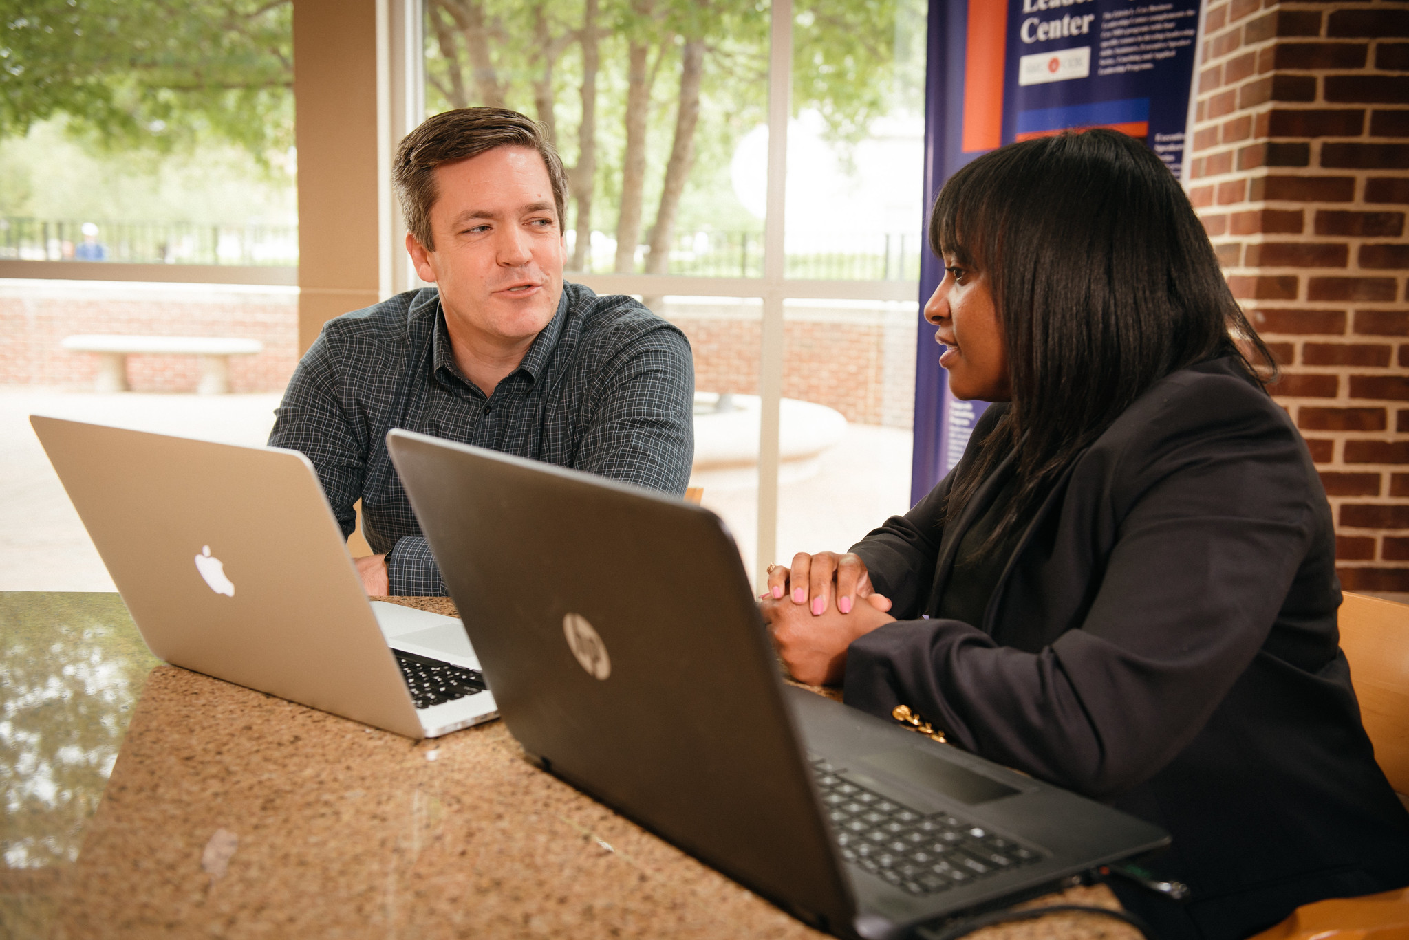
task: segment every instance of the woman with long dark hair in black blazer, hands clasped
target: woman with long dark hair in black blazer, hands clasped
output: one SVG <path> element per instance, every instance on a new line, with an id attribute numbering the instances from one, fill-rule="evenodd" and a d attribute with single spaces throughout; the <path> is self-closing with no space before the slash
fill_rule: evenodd
<path id="1" fill-rule="evenodd" d="M 964 459 L 844 555 L 775 567 L 793 675 L 1164 826 L 1161 937 L 1409 884 L 1409 813 L 1337 645 L 1330 507 L 1179 185 L 1089 131 L 955 173 L 926 304 Z"/>

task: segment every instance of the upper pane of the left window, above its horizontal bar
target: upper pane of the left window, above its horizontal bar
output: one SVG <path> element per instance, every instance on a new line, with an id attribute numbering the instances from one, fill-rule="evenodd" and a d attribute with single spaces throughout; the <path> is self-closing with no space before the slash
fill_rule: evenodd
<path id="1" fill-rule="evenodd" d="M 296 266 L 292 8 L 39 0 L 7 14 L 0 262 Z"/>

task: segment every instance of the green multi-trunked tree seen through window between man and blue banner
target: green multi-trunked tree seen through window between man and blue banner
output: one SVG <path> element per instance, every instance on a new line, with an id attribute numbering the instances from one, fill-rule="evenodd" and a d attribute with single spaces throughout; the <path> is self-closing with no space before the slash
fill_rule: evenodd
<path id="1" fill-rule="evenodd" d="M 816 109 L 845 148 L 913 82 L 907 0 L 805 4 L 793 25 L 793 111 Z M 674 233 L 761 230 L 728 163 L 766 120 L 766 3 L 427 0 L 430 111 L 513 107 L 552 128 L 573 183 L 575 251 L 614 233 L 616 271 L 662 273 Z M 923 49 L 923 45 L 919 47 Z M 907 72 L 909 69 L 909 72 Z"/>

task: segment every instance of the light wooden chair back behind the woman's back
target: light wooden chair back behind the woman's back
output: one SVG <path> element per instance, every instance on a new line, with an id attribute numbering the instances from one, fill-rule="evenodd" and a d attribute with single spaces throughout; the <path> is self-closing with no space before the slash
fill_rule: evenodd
<path id="1" fill-rule="evenodd" d="M 1375 760 L 1391 786 L 1409 795 L 1409 605 L 1347 593 L 1340 648 Z"/>

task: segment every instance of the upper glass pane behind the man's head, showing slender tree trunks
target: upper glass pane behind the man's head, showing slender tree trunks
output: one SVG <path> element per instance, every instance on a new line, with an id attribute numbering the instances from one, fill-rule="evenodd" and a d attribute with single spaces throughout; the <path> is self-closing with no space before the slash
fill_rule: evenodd
<path id="1" fill-rule="evenodd" d="M 766 80 L 766 7 L 426 4 L 428 113 L 495 104 L 552 131 L 572 183 L 571 271 L 758 276 L 762 218 L 730 172 Z"/>

